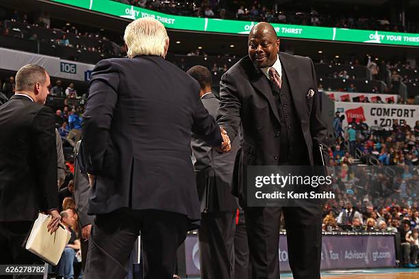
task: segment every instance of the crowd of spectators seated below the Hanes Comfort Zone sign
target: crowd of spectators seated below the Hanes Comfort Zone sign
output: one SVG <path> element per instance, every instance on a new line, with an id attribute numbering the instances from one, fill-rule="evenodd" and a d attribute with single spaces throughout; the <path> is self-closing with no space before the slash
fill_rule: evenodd
<path id="1" fill-rule="evenodd" d="M 323 230 L 400 233 L 406 267 L 418 263 L 419 120 L 413 129 L 394 120 L 372 127 L 344 116 L 333 119 L 329 148 L 335 199 L 324 207 Z M 372 159 L 374 158 L 374 159 Z M 367 166 L 368 165 L 368 166 Z"/>

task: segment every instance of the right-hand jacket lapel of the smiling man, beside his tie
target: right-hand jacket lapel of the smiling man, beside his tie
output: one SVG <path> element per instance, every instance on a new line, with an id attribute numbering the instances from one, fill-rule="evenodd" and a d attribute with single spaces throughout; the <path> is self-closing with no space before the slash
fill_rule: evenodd
<path id="1" fill-rule="evenodd" d="M 297 116 L 299 116 L 299 119 L 301 120 L 301 109 L 307 107 L 305 103 L 303 102 L 303 98 L 301 98 L 301 92 L 300 89 L 300 72 L 299 68 L 296 67 L 296 65 L 290 63 L 288 57 L 284 53 L 278 53 L 279 55 L 279 61 L 281 61 L 282 70 L 285 71 L 285 74 L 287 76 L 288 85 L 290 88 L 292 101 L 294 102 L 294 108 L 297 112 Z"/>

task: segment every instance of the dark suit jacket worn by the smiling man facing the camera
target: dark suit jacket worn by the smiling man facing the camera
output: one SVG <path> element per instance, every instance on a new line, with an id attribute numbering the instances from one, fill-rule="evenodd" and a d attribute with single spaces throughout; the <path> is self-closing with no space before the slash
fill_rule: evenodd
<path id="1" fill-rule="evenodd" d="M 316 72 L 312 59 L 279 53 L 291 89 L 294 109 L 301 123 L 307 157 L 311 165 L 322 165 L 319 144 L 326 136 L 320 120 L 320 105 Z M 307 98 L 309 90 L 315 94 Z M 246 200 L 246 170 L 248 165 L 278 165 L 280 130 L 275 99 L 264 73 L 255 68 L 246 56 L 233 65 L 220 81 L 220 108 L 217 111 L 220 127 L 233 140 L 242 124 L 242 150 L 236 158 L 233 194 Z M 325 160 L 326 161 L 326 160 Z"/>

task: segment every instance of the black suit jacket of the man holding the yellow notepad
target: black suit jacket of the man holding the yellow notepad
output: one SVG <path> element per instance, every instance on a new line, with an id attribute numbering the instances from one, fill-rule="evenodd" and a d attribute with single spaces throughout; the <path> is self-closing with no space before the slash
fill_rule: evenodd
<path id="1" fill-rule="evenodd" d="M 14 95 L 0 107 L 0 127 L 0 222 L 58 209 L 53 111 Z"/>

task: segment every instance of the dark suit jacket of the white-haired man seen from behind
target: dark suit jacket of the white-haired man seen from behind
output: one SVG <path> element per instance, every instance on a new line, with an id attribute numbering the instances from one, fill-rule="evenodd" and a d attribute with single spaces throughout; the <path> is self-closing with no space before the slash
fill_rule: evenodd
<path id="1" fill-rule="evenodd" d="M 162 57 L 105 59 L 95 66 L 84 113 L 82 161 L 96 174 L 90 214 L 158 209 L 199 220 L 190 133 L 222 138 L 199 83 Z"/>

